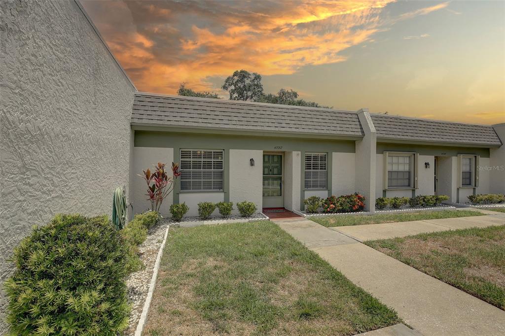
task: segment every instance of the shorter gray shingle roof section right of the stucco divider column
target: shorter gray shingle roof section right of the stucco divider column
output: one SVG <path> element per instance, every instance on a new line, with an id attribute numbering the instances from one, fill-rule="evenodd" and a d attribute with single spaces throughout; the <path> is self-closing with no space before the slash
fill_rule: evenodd
<path id="1" fill-rule="evenodd" d="M 377 138 L 499 146 L 492 126 L 371 114 Z"/>

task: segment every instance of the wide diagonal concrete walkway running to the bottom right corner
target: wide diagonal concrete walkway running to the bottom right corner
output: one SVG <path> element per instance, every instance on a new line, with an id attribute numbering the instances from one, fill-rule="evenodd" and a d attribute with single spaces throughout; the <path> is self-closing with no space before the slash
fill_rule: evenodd
<path id="1" fill-rule="evenodd" d="M 425 336 L 505 334 L 505 312 L 482 300 L 306 218 L 274 222 Z"/>

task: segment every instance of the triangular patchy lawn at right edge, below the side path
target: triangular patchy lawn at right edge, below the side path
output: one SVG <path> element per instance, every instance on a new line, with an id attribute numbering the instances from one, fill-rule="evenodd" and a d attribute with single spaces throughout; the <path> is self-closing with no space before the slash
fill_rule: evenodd
<path id="1" fill-rule="evenodd" d="M 365 244 L 505 310 L 505 226 Z"/>

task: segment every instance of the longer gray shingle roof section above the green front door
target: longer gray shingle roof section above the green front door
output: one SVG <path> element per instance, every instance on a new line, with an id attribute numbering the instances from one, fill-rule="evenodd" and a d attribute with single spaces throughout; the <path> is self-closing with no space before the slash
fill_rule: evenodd
<path id="1" fill-rule="evenodd" d="M 132 124 L 363 137 L 354 111 L 136 93 Z"/>

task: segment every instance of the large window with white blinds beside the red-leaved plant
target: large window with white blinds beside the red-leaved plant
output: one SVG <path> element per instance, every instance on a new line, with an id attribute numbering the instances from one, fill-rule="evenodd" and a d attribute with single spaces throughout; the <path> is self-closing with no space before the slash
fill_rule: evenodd
<path id="1" fill-rule="evenodd" d="M 181 190 L 223 190 L 223 150 L 181 149 Z"/>

